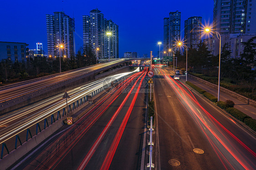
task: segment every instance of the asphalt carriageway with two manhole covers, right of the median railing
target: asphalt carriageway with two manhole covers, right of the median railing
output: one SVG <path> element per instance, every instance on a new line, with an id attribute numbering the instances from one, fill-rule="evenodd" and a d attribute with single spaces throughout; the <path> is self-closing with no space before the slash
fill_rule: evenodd
<path id="1" fill-rule="evenodd" d="M 154 72 L 160 156 L 157 168 L 256 169 L 254 136 L 179 80 L 168 78 L 168 72 L 160 68 Z M 195 153 L 195 148 L 204 153 Z"/>

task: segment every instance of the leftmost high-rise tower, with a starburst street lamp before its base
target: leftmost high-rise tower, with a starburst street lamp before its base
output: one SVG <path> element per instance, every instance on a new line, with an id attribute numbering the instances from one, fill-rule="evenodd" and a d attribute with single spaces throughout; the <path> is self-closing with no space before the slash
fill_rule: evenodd
<path id="1" fill-rule="evenodd" d="M 74 56 L 74 31 L 75 19 L 64 14 L 64 12 L 54 12 L 54 15 L 46 14 L 47 48 L 48 55 L 59 56 L 60 45 L 61 56 Z"/>

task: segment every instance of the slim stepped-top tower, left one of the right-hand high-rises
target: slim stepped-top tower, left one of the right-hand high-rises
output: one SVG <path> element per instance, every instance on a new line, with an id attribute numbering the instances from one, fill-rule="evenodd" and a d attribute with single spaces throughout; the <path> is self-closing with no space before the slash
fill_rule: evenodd
<path id="1" fill-rule="evenodd" d="M 177 50 L 176 42 L 180 40 L 180 17 L 178 10 L 169 13 L 169 18 L 164 18 L 164 50 L 169 48 Z"/>

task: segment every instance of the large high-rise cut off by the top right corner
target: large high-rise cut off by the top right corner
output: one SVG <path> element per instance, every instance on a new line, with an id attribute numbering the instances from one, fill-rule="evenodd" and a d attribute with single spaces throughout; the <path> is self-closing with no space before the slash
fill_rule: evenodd
<path id="1" fill-rule="evenodd" d="M 213 27 L 221 35 L 256 33 L 255 0 L 214 0 Z"/>

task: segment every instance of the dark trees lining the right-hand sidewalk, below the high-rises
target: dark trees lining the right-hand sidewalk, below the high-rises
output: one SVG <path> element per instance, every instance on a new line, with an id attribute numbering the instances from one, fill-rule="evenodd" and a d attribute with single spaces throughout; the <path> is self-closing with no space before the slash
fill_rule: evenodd
<path id="1" fill-rule="evenodd" d="M 231 58 L 229 45 L 221 48 L 220 86 L 256 100 L 256 37 L 242 42 L 244 51 Z M 178 70 L 186 71 L 186 51 L 176 51 Z M 172 65 L 172 62 L 170 62 Z M 219 55 L 210 55 L 210 50 L 201 42 L 197 49 L 188 50 L 189 74 L 218 85 Z"/>

